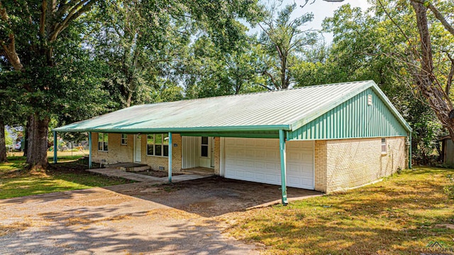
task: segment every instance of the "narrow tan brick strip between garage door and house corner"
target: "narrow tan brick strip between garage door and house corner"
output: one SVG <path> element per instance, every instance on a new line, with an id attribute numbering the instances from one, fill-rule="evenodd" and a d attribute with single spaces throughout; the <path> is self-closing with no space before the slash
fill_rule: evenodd
<path id="1" fill-rule="evenodd" d="M 315 156 L 314 156 L 314 189 L 321 192 L 326 192 L 326 141 L 315 141 Z"/>

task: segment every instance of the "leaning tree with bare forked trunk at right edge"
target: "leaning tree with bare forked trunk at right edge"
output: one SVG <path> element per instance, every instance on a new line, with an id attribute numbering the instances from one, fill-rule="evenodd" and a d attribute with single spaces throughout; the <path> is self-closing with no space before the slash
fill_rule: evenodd
<path id="1" fill-rule="evenodd" d="M 414 58 L 419 60 L 419 68 L 409 65 L 414 84 L 419 92 L 425 97 L 436 113 L 441 124 L 448 129 L 451 139 L 454 141 L 454 109 L 451 97 L 454 77 L 454 26 L 452 15 L 454 4 L 452 1 L 439 1 L 438 6 L 433 5 L 431 1 L 411 0 L 411 6 L 416 15 L 416 25 L 419 31 L 419 50 L 412 48 Z M 429 21 L 428 11 L 431 11 L 438 23 L 433 20 Z M 437 33 L 429 28 L 433 26 L 443 26 L 445 33 Z M 437 40 L 436 36 L 443 36 L 443 40 L 449 42 L 447 47 L 433 48 L 432 41 Z M 413 46 L 413 45 L 412 45 Z M 414 47 L 414 46 L 413 46 Z M 437 58 L 434 61 L 434 58 Z M 434 63 L 443 63 L 450 67 L 440 68 L 440 65 Z"/>

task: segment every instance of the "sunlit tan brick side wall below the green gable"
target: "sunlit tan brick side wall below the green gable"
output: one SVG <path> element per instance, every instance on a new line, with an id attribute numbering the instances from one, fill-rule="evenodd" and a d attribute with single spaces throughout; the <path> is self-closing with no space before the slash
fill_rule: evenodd
<path id="1" fill-rule="evenodd" d="M 319 158 L 322 158 L 323 149 L 316 148 L 316 154 L 317 151 L 321 154 Z M 382 153 L 381 138 L 326 140 L 325 192 L 371 183 L 395 173 L 397 168 L 406 168 L 404 137 L 387 138 L 387 153 Z M 319 169 L 323 171 L 323 167 Z"/>

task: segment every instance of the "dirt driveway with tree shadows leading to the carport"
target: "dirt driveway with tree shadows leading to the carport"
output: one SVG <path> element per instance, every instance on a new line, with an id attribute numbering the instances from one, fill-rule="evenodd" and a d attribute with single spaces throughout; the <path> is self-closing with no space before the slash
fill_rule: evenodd
<path id="1" fill-rule="evenodd" d="M 278 188 L 211 177 L 0 200 L 0 254 L 258 254 L 220 222 L 278 199 Z M 304 195 L 318 193 L 289 189 Z"/>

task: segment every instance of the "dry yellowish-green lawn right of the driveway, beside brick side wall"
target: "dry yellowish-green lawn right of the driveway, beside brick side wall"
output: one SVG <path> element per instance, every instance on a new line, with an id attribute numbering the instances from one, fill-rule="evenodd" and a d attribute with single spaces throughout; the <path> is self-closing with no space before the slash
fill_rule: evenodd
<path id="1" fill-rule="evenodd" d="M 228 232 L 265 254 L 454 254 L 453 169 L 420 167 L 348 192 L 250 210 Z M 244 216 L 245 215 L 245 216 Z M 453 251 L 453 252 L 451 252 Z"/>

